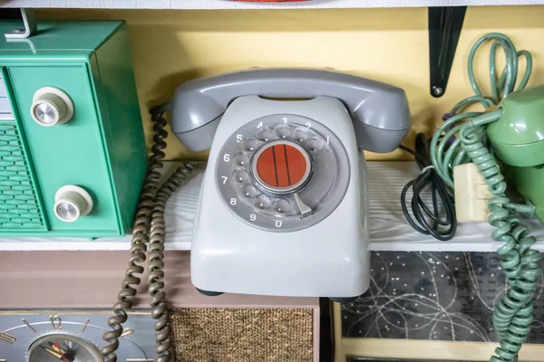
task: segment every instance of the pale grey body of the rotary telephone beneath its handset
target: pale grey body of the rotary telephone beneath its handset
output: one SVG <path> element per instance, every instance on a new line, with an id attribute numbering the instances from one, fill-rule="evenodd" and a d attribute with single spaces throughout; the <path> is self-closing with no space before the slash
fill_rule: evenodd
<path id="1" fill-rule="evenodd" d="M 283 119 L 290 126 L 285 126 Z M 262 129 L 267 133 L 259 136 Z M 307 151 L 313 161 L 301 161 L 306 173 L 309 165 L 315 174 L 298 192 L 299 199 L 306 203 L 322 200 L 306 217 L 296 199 L 288 200 L 287 192 L 280 198 L 252 178 L 258 174 L 262 157 L 257 152 L 274 149 L 259 144 L 258 139 L 283 142 L 279 139 L 282 136 L 277 136 L 281 133 L 278 129 L 287 129 L 289 147 L 299 149 L 301 158 L 305 144 L 301 146 L 297 140 L 321 139 L 325 134 L 328 139 L 321 140 L 315 153 Z M 315 135 L 307 133 L 308 129 L 314 129 Z M 296 132 L 306 133 L 295 137 Z M 251 149 L 256 154 L 249 157 L 244 152 Z M 282 152 L 287 152 L 285 149 Z M 208 165 L 191 243 L 190 278 L 195 287 L 238 294 L 333 298 L 353 298 L 368 289 L 364 153 L 357 148 L 352 119 L 341 101 L 327 97 L 305 101 L 240 97 L 221 119 Z M 333 171 L 336 177 L 327 178 Z M 276 170 L 273 172 L 277 175 Z M 302 173 L 300 177 L 304 177 Z M 237 179 L 242 182 L 239 186 L 233 181 Z M 273 183 L 268 185 L 274 188 Z M 237 190 L 246 186 L 247 194 L 238 195 Z M 323 194 L 323 190 L 330 191 Z M 266 201 L 259 201 L 259 196 Z M 278 209 L 274 205 L 279 205 Z M 291 207 L 300 208 L 299 214 L 281 215 Z"/>

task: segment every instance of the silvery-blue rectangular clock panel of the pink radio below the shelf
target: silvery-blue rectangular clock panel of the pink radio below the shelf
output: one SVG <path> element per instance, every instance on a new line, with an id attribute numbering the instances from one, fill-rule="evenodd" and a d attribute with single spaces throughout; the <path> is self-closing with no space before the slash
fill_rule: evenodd
<path id="1" fill-rule="evenodd" d="M 110 313 L 0 312 L 0 361 L 102 362 L 100 348 Z M 151 360 L 155 337 L 151 314 L 130 313 L 116 351 L 118 361 Z"/>

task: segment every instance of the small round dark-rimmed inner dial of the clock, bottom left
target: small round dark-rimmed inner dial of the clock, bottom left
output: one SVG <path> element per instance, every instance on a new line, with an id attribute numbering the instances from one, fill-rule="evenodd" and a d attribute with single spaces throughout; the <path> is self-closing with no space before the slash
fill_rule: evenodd
<path id="1" fill-rule="evenodd" d="M 52 333 L 34 340 L 28 362 L 100 362 L 99 349 L 89 341 L 65 333 Z"/>

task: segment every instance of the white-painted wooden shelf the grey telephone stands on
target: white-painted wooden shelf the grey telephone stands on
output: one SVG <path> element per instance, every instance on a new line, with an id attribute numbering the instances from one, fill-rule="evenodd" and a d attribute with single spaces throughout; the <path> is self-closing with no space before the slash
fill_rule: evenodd
<path id="1" fill-rule="evenodd" d="M 370 207 L 370 249 L 373 251 L 434 251 L 494 252 L 501 245 L 491 240 L 491 226 L 460 224 L 452 241 L 439 242 L 417 233 L 406 222 L 400 206 L 403 186 L 419 173 L 413 162 L 368 162 Z M 176 166 L 168 163 L 165 173 Z M 190 250 L 192 226 L 199 199 L 202 172 L 189 180 L 166 207 L 166 249 Z M 536 220 L 527 221 L 531 234 L 544 240 L 544 228 Z M 120 238 L 99 238 L 93 241 L 78 238 L 3 238 L 0 251 L 115 251 L 129 250 L 130 235 Z M 536 248 L 544 251 L 544 242 Z"/>

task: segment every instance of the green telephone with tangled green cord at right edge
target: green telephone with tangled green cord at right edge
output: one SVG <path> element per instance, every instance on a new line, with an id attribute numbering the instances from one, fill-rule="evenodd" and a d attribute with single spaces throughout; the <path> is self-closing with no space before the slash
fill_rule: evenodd
<path id="1" fill-rule="evenodd" d="M 491 96 L 485 96 L 475 81 L 474 54 L 488 40 L 491 44 Z M 496 71 L 498 48 L 506 56 L 506 68 Z M 518 60 L 524 57 L 526 70 L 516 90 Z M 540 252 L 531 249 L 536 239 L 519 213 L 534 214 L 544 224 L 544 86 L 524 90 L 531 72 L 532 59 L 527 51 L 517 52 L 510 39 L 501 33 L 489 33 L 474 44 L 468 69 L 475 96 L 461 100 L 431 140 L 432 166 L 444 182 L 454 187 L 453 168 L 472 162 L 478 167 L 491 198 L 489 223 L 495 227 L 493 240 L 503 242 L 497 252 L 510 288 L 493 311 L 493 325 L 500 337 L 500 347 L 491 362 L 517 361 L 521 344 L 532 323 L 534 292 L 541 274 Z M 484 111 L 464 111 L 480 103 Z M 454 139 L 454 140 L 452 140 Z M 491 150 L 490 150 L 491 146 Z M 503 173 L 505 174 L 503 176 Z M 506 194 L 508 177 L 529 205 L 510 202 Z"/>

